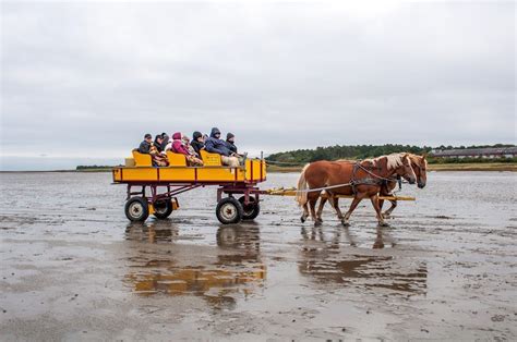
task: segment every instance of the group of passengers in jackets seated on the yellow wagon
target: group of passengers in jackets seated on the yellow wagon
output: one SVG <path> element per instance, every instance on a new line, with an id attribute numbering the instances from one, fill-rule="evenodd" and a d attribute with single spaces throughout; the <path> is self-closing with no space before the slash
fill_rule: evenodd
<path id="1" fill-rule="evenodd" d="M 176 132 L 172 134 L 172 139 L 166 133 L 161 133 L 156 135 L 153 142 L 153 136 L 147 133 L 137 150 L 141 154 L 151 155 L 153 164 L 156 167 L 169 166 L 168 150 L 184 155 L 190 167 L 202 167 L 201 150 L 206 150 L 211 154 L 220 155 L 223 164 L 237 168 L 243 162 L 245 154 L 238 154 L 235 138 L 233 134 L 228 133 L 226 141 L 221 139 L 220 131 L 217 127 L 212 129 L 211 136 L 203 135 L 197 131 L 194 132 L 192 141 L 182 135 L 181 132 Z"/>

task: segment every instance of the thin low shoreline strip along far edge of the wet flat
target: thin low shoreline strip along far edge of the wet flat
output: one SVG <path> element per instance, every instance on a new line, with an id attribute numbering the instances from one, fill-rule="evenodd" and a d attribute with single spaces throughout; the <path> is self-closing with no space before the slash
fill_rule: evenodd
<path id="1" fill-rule="evenodd" d="M 268 166 L 269 173 L 300 172 L 303 167 L 278 167 Z M 429 164 L 429 171 L 509 171 L 517 172 L 517 163 L 493 162 L 493 163 L 435 163 Z M 85 170 L 43 170 L 43 171 L 0 171 L 0 173 L 105 173 L 111 172 L 111 168 L 85 169 Z"/>

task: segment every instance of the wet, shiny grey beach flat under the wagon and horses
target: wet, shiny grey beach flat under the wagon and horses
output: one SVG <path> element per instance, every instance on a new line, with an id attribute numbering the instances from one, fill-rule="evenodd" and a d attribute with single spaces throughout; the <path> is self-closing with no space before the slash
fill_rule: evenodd
<path id="1" fill-rule="evenodd" d="M 517 339 L 515 173 L 432 172 L 390 228 L 363 201 L 317 229 L 292 197 L 220 225 L 194 190 L 139 224 L 109 173 L 0 176 L 0 340 Z"/>

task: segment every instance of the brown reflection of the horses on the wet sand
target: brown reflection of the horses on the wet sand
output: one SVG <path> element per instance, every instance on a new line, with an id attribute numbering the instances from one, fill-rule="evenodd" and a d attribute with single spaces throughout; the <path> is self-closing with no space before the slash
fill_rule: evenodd
<path id="1" fill-rule="evenodd" d="M 360 249 L 348 247 L 353 247 L 349 234 L 344 234 L 345 241 L 341 241 L 341 230 L 348 231 L 338 228 L 330 239 L 326 239 L 320 229 L 312 229 L 310 233 L 302 229 L 301 260 L 298 261 L 300 273 L 310 276 L 318 283 L 425 294 L 428 267 L 424 261 L 414 265 L 406 259 L 402 265 L 393 256 L 358 255 Z M 384 247 L 383 236 L 384 232 L 378 228 L 372 248 Z"/>

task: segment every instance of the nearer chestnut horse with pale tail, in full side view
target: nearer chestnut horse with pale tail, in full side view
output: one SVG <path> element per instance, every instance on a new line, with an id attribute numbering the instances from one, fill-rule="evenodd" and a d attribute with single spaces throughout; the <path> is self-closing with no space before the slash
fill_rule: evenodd
<path id="1" fill-rule="evenodd" d="M 323 188 L 326 187 L 325 192 L 328 200 L 330 200 L 344 225 L 349 225 L 350 215 L 359 203 L 366 197 L 372 201 L 378 224 L 388 225 L 384 222 L 378 206 L 378 193 L 383 182 L 389 181 L 392 176 L 396 175 L 402 176 L 410 184 L 414 184 L 417 181 L 409 154 L 393 154 L 358 162 L 322 160 L 306 164 L 298 180 L 296 197 L 299 205 L 303 207 L 301 220 L 302 222 L 306 220 L 309 217 L 308 207 L 310 207 L 314 225 L 322 223 L 321 210 L 323 210 L 323 206 L 320 206 L 318 216 L 316 216 L 315 205 Z M 352 204 L 345 217 L 339 210 L 338 197 L 335 195 L 353 195 Z"/>

